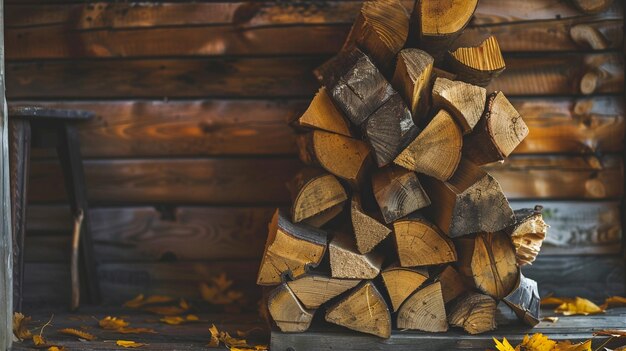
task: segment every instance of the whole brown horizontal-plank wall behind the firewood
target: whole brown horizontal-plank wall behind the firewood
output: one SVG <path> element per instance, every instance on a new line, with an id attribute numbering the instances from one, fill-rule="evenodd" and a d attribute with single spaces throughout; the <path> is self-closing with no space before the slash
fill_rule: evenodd
<path id="1" fill-rule="evenodd" d="M 80 135 L 105 299 L 193 297 L 226 271 L 255 301 L 266 223 L 300 166 L 286 121 L 361 2 L 5 3 L 10 103 L 98 115 Z M 531 129 L 490 170 L 514 207 L 541 203 L 552 225 L 527 274 L 543 293 L 623 293 L 621 1 L 585 15 L 564 0 L 481 0 L 464 35 L 485 33 L 507 62 L 489 89 Z M 64 302 L 69 212 L 54 155 L 35 154 L 26 298 Z"/>

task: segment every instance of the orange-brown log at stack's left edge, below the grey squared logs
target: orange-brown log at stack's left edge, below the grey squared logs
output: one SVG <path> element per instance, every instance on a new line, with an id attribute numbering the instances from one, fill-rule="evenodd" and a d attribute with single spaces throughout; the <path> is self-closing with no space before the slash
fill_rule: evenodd
<path id="1" fill-rule="evenodd" d="M 343 135 L 314 130 L 297 139 L 300 159 L 318 164 L 351 184 L 359 184 L 368 166 L 370 148 L 366 143 Z"/>

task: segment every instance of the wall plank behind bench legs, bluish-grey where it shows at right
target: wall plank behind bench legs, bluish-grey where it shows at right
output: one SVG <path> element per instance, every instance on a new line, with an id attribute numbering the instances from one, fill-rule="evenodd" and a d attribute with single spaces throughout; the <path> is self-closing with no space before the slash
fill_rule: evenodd
<path id="1" fill-rule="evenodd" d="M 544 206 L 550 225 L 541 255 L 618 254 L 617 202 L 520 202 Z M 90 210 L 95 253 L 102 262 L 258 259 L 273 207 L 154 207 Z M 27 262 L 69 262 L 71 216 L 66 206 L 30 206 Z M 245 242 L 245 245 L 242 243 Z"/>

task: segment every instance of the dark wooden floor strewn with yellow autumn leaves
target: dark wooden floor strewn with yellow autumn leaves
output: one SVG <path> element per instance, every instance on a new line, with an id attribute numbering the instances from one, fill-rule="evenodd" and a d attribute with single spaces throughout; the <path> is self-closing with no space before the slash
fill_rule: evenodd
<path id="1" fill-rule="evenodd" d="M 253 314 L 208 314 L 198 313 L 201 323 L 186 325 L 166 325 L 158 322 L 158 316 L 137 313 L 133 310 L 115 308 L 86 308 L 77 313 L 59 311 L 33 311 L 26 313 L 32 317 L 30 323 L 34 333 L 45 324 L 52 314 L 52 324 L 46 327 L 44 337 L 49 343 L 65 346 L 68 350 L 119 350 L 116 340 L 132 340 L 149 344 L 141 350 L 206 350 L 209 341 L 208 328 L 215 324 L 219 330 L 233 336 L 237 330 L 250 331 L 248 340 L 255 344 L 267 344 L 269 332 L 266 324 Z M 118 334 L 102 330 L 98 320 L 105 316 L 123 317 L 131 327 L 147 327 L 155 334 Z M 552 315 L 545 311 L 544 316 Z M 85 330 L 97 336 L 97 340 L 82 342 L 76 338 L 57 332 L 63 328 Z M 521 325 L 503 325 L 497 331 L 471 336 L 452 329 L 447 333 L 420 333 L 414 331 L 395 331 L 388 340 L 351 332 L 347 329 L 330 326 L 325 323 L 312 327 L 312 331 L 302 334 L 272 332 L 272 351 L 306 350 L 485 350 L 494 349 L 492 337 L 506 337 L 511 343 L 521 341 L 525 334 L 543 333 L 552 339 L 584 341 L 593 337 L 593 331 L 601 329 L 626 329 L 626 308 L 610 309 L 606 314 L 595 316 L 560 316 L 557 323 L 541 322 L 534 329 Z M 606 338 L 596 337 L 594 347 L 602 344 Z M 612 345 L 616 346 L 616 345 Z M 13 350 L 33 350 L 31 341 L 14 343 Z"/>

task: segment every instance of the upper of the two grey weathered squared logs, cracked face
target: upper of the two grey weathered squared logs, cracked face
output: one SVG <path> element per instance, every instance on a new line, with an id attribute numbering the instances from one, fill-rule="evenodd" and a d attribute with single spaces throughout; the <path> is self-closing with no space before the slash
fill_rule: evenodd
<path id="1" fill-rule="evenodd" d="M 340 53 L 314 73 L 335 105 L 357 126 L 395 93 L 370 58 L 356 48 Z"/>

